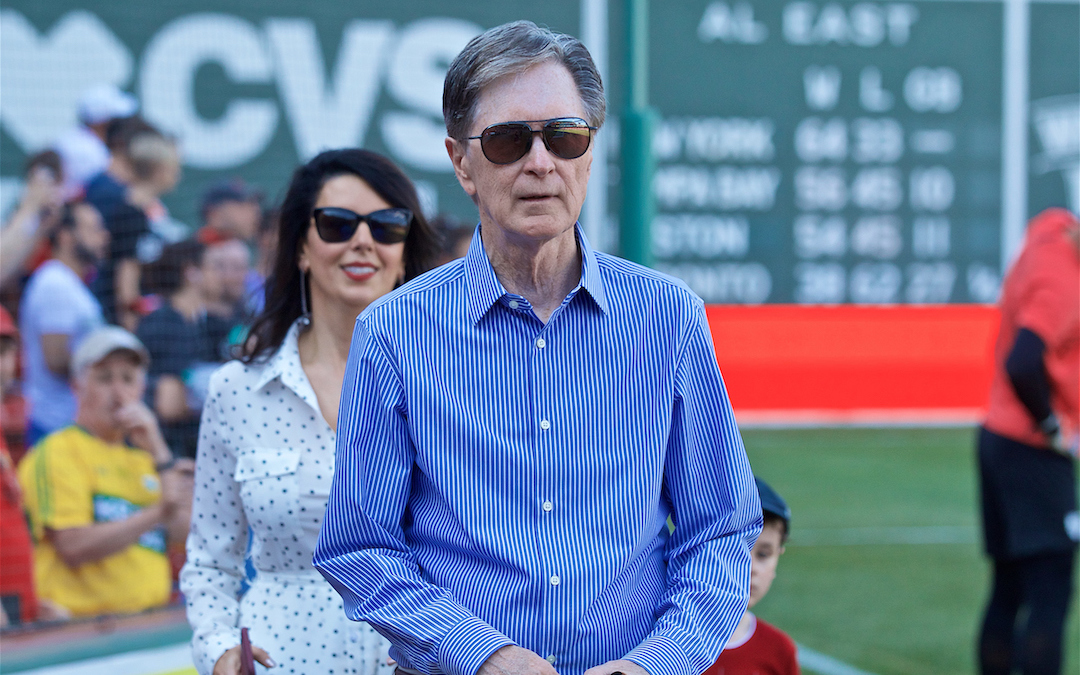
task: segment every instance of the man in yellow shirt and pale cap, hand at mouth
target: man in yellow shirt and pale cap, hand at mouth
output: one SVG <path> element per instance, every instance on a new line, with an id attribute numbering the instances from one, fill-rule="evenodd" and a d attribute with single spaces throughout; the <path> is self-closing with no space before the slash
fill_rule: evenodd
<path id="1" fill-rule="evenodd" d="M 76 423 L 18 467 L 38 597 L 76 617 L 140 611 L 172 591 L 165 544 L 187 534 L 192 465 L 176 464 L 143 403 L 147 361 L 123 328 L 90 334 L 71 361 Z"/>

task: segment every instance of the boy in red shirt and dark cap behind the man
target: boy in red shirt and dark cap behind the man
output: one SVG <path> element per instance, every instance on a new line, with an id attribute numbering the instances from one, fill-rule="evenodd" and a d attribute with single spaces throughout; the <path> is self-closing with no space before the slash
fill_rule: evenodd
<path id="1" fill-rule="evenodd" d="M 780 629 L 761 621 L 750 608 L 769 592 L 784 552 L 792 511 L 761 478 L 756 478 L 765 525 L 751 552 L 750 604 L 728 638 L 720 658 L 703 675 L 798 675 L 795 643 Z"/>

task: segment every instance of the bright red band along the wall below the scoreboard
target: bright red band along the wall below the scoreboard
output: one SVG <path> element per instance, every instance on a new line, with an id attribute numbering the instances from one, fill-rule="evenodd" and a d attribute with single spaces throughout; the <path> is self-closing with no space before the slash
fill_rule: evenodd
<path id="1" fill-rule="evenodd" d="M 974 423 L 993 374 L 990 306 L 710 306 L 741 423 Z"/>

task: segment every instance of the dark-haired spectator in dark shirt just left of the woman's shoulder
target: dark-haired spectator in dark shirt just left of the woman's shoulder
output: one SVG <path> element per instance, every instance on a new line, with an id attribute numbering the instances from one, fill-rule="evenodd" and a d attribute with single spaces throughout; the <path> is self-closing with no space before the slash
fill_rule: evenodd
<path id="1" fill-rule="evenodd" d="M 199 413 L 210 373 L 220 362 L 206 318 L 205 285 L 212 270 L 205 246 L 194 240 L 170 244 L 147 269 L 147 287 L 165 298 L 138 326 L 150 352 L 148 399 L 165 443 L 177 457 L 195 456 Z"/>

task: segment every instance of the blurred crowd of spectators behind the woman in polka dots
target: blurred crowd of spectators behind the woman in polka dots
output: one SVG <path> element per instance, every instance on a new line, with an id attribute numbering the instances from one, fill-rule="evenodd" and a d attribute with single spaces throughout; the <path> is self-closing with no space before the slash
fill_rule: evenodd
<path id="1" fill-rule="evenodd" d="M 28 158 L 0 229 L 4 625 L 175 596 L 210 376 L 274 259 L 276 215 L 239 177 L 204 189 L 200 222 L 170 215 L 180 144 L 133 96 L 92 87 L 78 117 Z M 460 257 L 472 228 L 440 224 Z"/>

